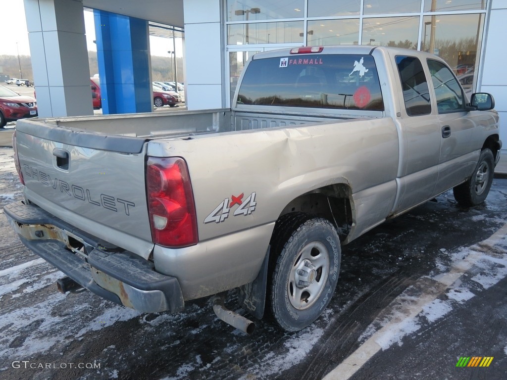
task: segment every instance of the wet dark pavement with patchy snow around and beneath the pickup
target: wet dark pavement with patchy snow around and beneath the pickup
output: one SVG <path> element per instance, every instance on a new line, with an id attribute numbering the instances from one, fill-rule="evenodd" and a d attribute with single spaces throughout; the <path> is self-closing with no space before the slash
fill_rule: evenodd
<path id="1" fill-rule="evenodd" d="M 0 148 L 0 209 L 21 199 Z M 143 314 L 90 292 L 60 294 L 63 275 L 24 248 L 0 211 L 2 379 L 507 378 L 507 179 L 480 206 L 452 192 L 343 247 L 323 316 L 284 333 L 245 335 L 209 298 L 184 313 Z M 236 311 L 236 293 L 227 305 Z M 489 367 L 456 367 L 493 357 Z"/>

